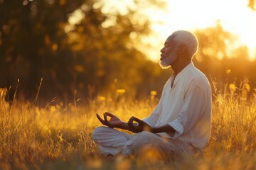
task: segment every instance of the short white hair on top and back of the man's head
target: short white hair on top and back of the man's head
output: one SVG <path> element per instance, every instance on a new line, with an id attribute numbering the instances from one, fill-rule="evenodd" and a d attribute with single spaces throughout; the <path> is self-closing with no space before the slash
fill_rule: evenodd
<path id="1" fill-rule="evenodd" d="M 198 39 L 196 35 L 187 30 L 176 30 L 172 33 L 172 40 L 175 40 L 176 44 L 185 45 L 188 50 L 188 55 L 193 58 L 193 56 L 198 52 Z"/>

